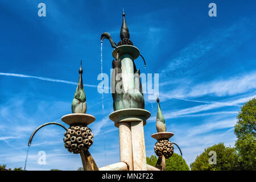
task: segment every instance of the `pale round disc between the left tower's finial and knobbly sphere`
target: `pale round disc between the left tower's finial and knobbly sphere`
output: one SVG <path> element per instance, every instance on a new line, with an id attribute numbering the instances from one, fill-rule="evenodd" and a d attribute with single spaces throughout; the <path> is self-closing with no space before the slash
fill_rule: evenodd
<path id="1" fill-rule="evenodd" d="M 64 115 L 61 120 L 69 126 L 73 123 L 83 123 L 87 126 L 95 121 L 95 117 L 90 114 L 73 113 Z"/>

